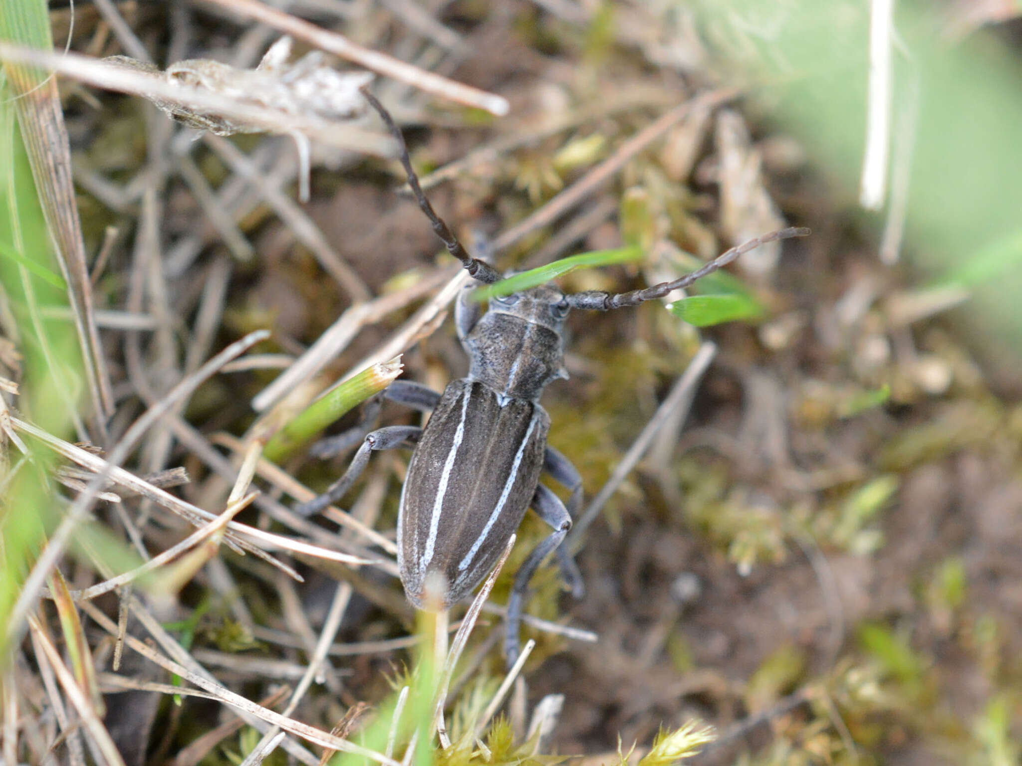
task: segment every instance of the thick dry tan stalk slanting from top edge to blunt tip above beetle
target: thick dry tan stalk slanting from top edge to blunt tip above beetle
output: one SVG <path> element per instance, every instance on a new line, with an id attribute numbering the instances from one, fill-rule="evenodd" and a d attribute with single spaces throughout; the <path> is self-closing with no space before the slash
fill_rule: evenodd
<path id="1" fill-rule="evenodd" d="M 305 40 L 310 45 L 315 45 L 328 53 L 354 61 L 371 71 L 385 75 L 443 98 L 485 109 L 498 116 L 507 114 L 510 108 L 507 99 L 503 96 L 480 91 L 478 88 L 472 88 L 405 63 L 385 53 L 363 48 L 342 35 L 329 32 L 282 10 L 256 2 L 256 0 L 205 0 L 205 2 L 275 27 L 281 32 Z"/>

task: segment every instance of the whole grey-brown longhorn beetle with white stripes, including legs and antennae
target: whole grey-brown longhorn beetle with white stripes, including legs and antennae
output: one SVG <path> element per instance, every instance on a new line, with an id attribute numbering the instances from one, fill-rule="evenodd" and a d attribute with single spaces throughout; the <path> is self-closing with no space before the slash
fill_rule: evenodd
<path id="1" fill-rule="evenodd" d="M 376 98 L 365 90 L 363 94 L 397 139 L 409 186 L 448 252 L 476 282 L 493 284 L 503 279 L 484 260 L 469 255 L 436 214 L 412 170 L 401 129 Z M 582 576 L 560 544 L 582 504 L 582 477 L 563 454 L 547 444 L 550 418 L 540 405 L 543 389 L 551 381 L 568 377 L 562 340 L 568 312 L 605 312 L 660 298 L 760 244 L 808 233 L 800 228 L 773 232 L 728 250 L 673 282 L 645 290 L 565 294 L 553 285 L 543 285 L 494 297 L 485 314 L 463 291 L 455 307 L 455 326 L 471 360 L 468 377 L 452 381 L 443 394 L 410 381 L 391 383 L 383 392 L 385 398 L 432 411 L 425 428 L 389 426 L 370 432 L 344 475 L 325 494 L 296 511 L 312 515 L 337 501 L 365 470 L 373 450 L 413 447 L 398 512 L 398 567 L 406 596 L 419 609 L 427 606 L 427 579 L 440 575 L 439 606 L 447 609 L 471 593 L 489 574 L 531 507 L 554 532 L 536 546 L 515 576 L 504 642 L 507 662 L 513 664 L 528 582 L 550 553 L 558 552 L 569 589 L 576 596 L 583 592 Z M 351 444 L 346 436 L 341 434 L 339 443 Z M 566 508 L 540 483 L 543 472 L 570 490 Z"/>

